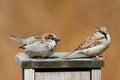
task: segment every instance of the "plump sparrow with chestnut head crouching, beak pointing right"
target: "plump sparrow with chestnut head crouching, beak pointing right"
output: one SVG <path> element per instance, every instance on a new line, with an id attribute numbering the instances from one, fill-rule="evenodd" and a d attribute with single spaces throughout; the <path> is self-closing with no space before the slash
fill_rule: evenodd
<path id="1" fill-rule="evenodd" d="M 24 49 L 24 52 L 29 57 L 50 57 L 56 50 L 57 42 L 60 38 L 53 33 L 45 33 L 39 36 L 32 36 L 26 39 L 21 39 L 16 36 L 9 36 L 8 38 L 21 42 L 23 45 L 19 48 Z"/>

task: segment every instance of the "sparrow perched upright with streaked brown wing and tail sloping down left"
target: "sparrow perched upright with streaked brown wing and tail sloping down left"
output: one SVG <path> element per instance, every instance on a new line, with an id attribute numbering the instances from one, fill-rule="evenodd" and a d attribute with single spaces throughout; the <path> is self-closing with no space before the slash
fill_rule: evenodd
<path id="1" fill-rule="evenodd" d="M 110 35 L 105 26 L 100 26 L 95 29 L 84 42 L 82 42 L 73 52 L 65 58 L 71 58 L 75 54 L 83 54 L 88 57 L 99 58 L 99 56 L 109 47 Z"/>

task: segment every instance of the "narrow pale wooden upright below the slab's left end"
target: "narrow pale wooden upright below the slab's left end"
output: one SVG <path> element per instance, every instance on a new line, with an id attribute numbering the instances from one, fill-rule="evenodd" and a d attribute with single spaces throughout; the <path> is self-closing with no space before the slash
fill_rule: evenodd
<path id="1" fill-rule="evenodd" d="M 24 80 L 35 80 L 34 69 L 24 69 L 23 71 L 24 71 L 24 76 L 23 76 Z"/>

